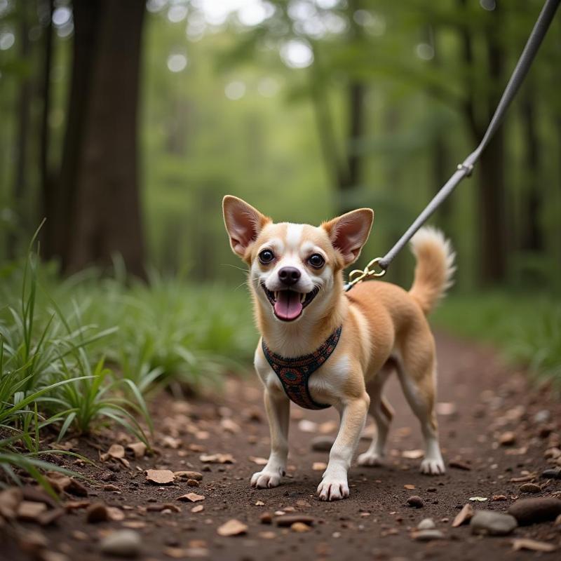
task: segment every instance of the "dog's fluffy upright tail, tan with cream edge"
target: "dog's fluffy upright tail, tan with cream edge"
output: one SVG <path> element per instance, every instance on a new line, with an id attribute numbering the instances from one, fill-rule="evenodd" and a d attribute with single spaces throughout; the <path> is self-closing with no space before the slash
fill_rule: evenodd
<path id="1" fill-rule="evenodd" d="M 430 226 L 421 228 L 413 236 L 411 250 L 417 266 L 409 293 L 428 314 L 452 286 L 456 254 L 444 234 Z"/>

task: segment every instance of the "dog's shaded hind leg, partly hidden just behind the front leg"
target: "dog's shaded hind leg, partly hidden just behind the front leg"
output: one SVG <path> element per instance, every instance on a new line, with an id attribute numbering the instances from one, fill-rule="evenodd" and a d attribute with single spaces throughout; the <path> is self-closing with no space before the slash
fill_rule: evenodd
<path id="1" fill-rule="evenodd" d="M 383 463 L 384 449 L 386 447 L 391 419 L 393 418 L 393 409 L 382 395 L 382 391 L 384 389 L 384 384 L 386 384 L 393 370 L 393 365 L 384 365 L 374 379 L 366 386 L 366 391 L 370 396 L 368 412 L 374 417 L 376 435 L 372 438 L 368 450 L 358 457 L 359 466 L 379 466 Z"/>

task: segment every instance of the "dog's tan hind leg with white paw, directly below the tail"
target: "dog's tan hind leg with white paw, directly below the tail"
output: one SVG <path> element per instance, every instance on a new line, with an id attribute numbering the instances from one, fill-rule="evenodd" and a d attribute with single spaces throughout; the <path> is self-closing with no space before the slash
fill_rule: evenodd
<path id="1" fill-rule="evenodd" d="M 418 351 L 418 349 L 415 349 Z M 428 360 L 419 359 L 424 353 L 410 353 L 398 361 L 398 377 L 411 409 L 419 419 L 425 441 L 425 457 L 421 472 L 428 475 L 445 473 L 444 460 L 438 443 L 438 424 L 434 410 L 436 364 L 434 349 Z"/>

